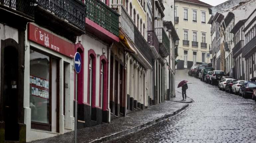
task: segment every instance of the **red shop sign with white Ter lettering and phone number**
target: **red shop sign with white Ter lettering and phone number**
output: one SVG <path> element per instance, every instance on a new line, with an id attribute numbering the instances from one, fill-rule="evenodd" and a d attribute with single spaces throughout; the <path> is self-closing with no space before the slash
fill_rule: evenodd
<path id="1" fill-rule="evenodd" d="M 74 44 L 55 36 L 31 23 L 28 24 L 28 40 L 49 48 L 55 52 L 74 57 Z"/>

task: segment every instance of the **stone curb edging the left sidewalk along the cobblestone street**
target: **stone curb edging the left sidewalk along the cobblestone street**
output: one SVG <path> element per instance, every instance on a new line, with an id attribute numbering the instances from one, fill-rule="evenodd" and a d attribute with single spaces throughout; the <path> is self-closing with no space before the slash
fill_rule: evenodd
<path id="1" fill-rule="evenodd" d="M 119 132 L 115 132 L 115 133 L 112 133 L 110 135 L 107 135 L 107 136 L 103 136 L 103 137 L 100 137 L 100 138 L 97 138 L 95 140 L 92 140 L 88 143 L 101 143 L 101 142 L 106 142 L 106 141 L 109 141 L 109 140 L 113 140 L 117 137 L 120 137 L 122 135 L 126 135 L 126 134 L 129 134 L 131 132 L 135 132 L 135 131 L 138 131 L 139 129 L 143 128 L 143 127 L 147 127 L 149 125 L 153 125 L 153 124 L 156 124 L 160 121 L 163 121 L 164 119 L 167 119 L 171 116 L 174 116 L 176 114 L 178 114 L 179 112 L 181 112 L 182 110 L 184 110 L 185 108 L 187 108 L 189 106 L 189 104 L 186 104 L 184 105 L 181 109 L 178 109 L 177 111 L 174 111 L 172 114 L 166 114 L 166 115 L 163 115 L 162 117 L 159 117 L 159 118 L 156 118 L 154 119 L 153 121 L 149 121 L 149 122 L 146 122 L 146 123 L 143 123 L 141 125 L 137 125 L 137 126 L 134 126 L 134 127 L 131 127 L 131 128 L 128 128 L 126 130 L 122 130 L 122 131 L 119 131 Z"/>

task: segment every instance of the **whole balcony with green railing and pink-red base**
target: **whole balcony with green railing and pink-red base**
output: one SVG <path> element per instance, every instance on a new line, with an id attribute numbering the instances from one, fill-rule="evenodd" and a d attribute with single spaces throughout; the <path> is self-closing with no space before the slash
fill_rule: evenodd
<path id="1" fill-rule="evenodd" d="M 88 27 L 89 32 L 106 42 L 118 40 L 120 15 L 100 0 L 85 0 L 85 4 L 86 30 Z"/>

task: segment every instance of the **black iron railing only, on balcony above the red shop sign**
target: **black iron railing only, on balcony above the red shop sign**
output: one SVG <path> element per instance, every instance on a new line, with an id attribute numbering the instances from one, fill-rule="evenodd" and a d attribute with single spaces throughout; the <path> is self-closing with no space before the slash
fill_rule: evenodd
<path id="1" fill-rule="evenodd" d="M 77 0 L 37 0 L 39 6 L 85 30 L 85 5 Z"/>

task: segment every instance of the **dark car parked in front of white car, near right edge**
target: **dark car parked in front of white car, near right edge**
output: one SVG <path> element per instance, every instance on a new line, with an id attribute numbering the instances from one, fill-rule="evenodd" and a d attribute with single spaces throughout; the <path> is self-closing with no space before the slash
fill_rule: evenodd
<path id="1" fill-rule="evenodd" d="M 246 81 L 240 87 L 239 94 L 244 98 L 252 98 L 254 89 L 256 89 L 256 82 Z"/>

